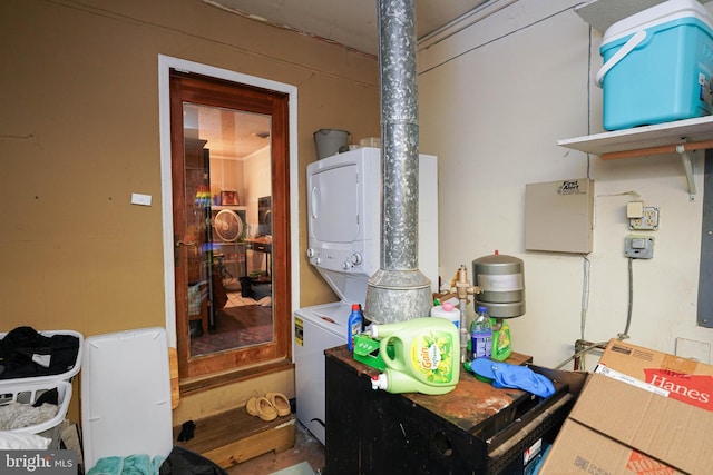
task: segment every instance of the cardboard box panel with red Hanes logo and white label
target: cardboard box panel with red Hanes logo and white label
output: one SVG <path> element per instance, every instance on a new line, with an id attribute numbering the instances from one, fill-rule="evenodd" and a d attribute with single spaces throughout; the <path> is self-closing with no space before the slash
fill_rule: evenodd
<path id="1" fill-rule="evenodd" d="M 612 339 L 595 373 L 713 410 L 713 366 L 693 359 Z"/>

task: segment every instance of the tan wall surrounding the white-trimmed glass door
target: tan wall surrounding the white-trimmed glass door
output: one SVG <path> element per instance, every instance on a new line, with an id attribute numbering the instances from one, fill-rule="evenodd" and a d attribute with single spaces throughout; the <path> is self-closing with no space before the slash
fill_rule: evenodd
<path id="1" fill-rule="evenodd" d="M 0 331 L 164 325 L 159 53 L 296 86 L 301 197 L 315 130 L 379 136 L 374 58 L 197 0 L 6 0 L 0 44 Z"/>

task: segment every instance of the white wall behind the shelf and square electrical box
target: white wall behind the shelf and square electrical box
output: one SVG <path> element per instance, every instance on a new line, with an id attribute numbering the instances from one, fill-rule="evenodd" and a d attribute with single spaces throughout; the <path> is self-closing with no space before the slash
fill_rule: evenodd
<path id="1" fill-rule="evenodd" d="M 439 157 L 443 283 L 460 264 L 472 279 L 471 260 L 495 249 L 521 258 L 527 313 L 509 321 L 514 348 L 546 366 L 572 356 L 580 337 L 584 257 L 525 251 L 525 186 L 586 177 L 587 156 L 556 142 L 603 130 L 602 91 L 589 79 L 602 66 L 602 37 L 573 11 L 578 3 L 501 0 L 492 8 L 499 11 L 465 20 L 418 52 L 421 151 Z M 696 326 L 702 157 L 694 202 L 677 156 L 589 161 L 595 225 L 585 338 L 607 340 L 626 325 L 625 207 L 633 197 L 625 194 L 635 191 L 661 208 L 661 226 L 654 258 L 633 263 L 631 342 L 668 353 L 676 337 L 710 345 L 713 330 Z"/>

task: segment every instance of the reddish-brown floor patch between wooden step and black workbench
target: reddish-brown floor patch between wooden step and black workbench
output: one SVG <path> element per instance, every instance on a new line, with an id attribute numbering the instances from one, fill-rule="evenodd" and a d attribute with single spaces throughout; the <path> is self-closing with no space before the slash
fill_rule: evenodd
<path id="1" fill-rule="evenodd" d="M 312 466 L 316 475 L 324 469 L 324 446 L 300 422 L 295 426 L 294 447 L 275 454 L 268 452 L 227 468 L 231 475 L 268 475 L 303 461 Z"/>

